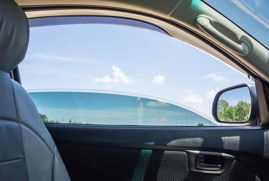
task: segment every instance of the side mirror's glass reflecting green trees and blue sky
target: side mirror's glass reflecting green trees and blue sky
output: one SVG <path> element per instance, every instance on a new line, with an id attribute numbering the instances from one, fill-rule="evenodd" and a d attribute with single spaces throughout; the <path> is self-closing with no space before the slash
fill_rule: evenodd
<path id="1" fill-rule="evenodd" d="M 224 92 L 218 100 L 218 119 L 225 122 L 246 122 L 250 115 L 251 98 L 248 87 Z"/>

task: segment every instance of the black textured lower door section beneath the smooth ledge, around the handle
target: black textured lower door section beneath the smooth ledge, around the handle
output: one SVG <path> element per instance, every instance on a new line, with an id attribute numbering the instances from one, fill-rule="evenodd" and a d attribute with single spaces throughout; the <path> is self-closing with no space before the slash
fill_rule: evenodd
<path id="1" fill-rule="evenodd" d="M 259 180 L 236 159 L 223 174 L 209 174 L 191 172 L 183 151 L 73 144 L 57 148 L 74 180 Z"/>

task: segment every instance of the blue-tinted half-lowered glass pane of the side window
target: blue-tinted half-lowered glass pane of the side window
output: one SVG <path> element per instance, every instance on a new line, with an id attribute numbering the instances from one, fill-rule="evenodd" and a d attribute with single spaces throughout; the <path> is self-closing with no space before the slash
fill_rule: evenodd
<path id="1" fill-rule="evenodd" d="M 150 96 L 113 91 L 31 90 L 47 123 L 90 125 L 217 125 L 195 110 Z M 48 119 L 48 118 L 52 118 Z"/>

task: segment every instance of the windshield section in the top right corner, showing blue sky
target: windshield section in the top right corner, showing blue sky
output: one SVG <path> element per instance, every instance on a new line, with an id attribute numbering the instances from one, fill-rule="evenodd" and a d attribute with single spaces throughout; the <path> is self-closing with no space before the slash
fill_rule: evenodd
<path id="1" fill-rule="evenodd" d="M 269 48 L 268 0 L 204 0 Z"/>

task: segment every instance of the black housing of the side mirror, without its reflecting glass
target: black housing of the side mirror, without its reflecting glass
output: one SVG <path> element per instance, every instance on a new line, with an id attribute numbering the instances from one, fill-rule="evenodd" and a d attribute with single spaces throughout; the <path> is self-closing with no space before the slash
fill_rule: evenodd
<path id="1" fill-rule="evenodd" d="M 247 87 L 249 89 L 250 98 L 251 98 L 251 108 L 250 108 L 250 114 L 249 114 L 248 119 L 246 121 L 232 121 L 232 122 L 220 120 L 218 117 L 218 101 L 219 101 L 221 95 L 225 92 L 229 92 L 229 91 L 239 89 L 239 88 L 244 88 L 244 87 Z M 226 89 L 219 91 L 215 95 L 215 98 L 213 101 L 212 115 L 217 122 L 222 123 L 222 124 L 259 125 L 260 122 L 258 120 L 260 118 L 260 114 L 259 114 L 258 98 L 257 98 L 255 85 L 254 84 L 240 84 L 240 85 L 232 86 L 232 87 L 229 87 L 229 88 L 226 88 Z"/>

